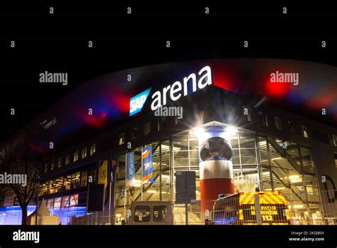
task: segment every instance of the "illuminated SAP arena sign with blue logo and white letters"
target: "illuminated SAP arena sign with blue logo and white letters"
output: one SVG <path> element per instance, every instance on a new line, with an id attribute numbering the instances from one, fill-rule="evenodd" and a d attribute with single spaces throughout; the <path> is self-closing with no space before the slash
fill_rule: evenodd
<path id="1" fill-rule="evenodd" d="M 172 85 L 163 88 L 163 92 L 156 91 L 151 96 L 154 99 L 151 103 L 151 110 L 156 110 L 166 105 L 168 95 L 172 101 L 178 100 L 182 95 L 188 95 L 188 82 L 191 82 L 192 93 L 213 84 L 210 66 L 205 66 L 198 72 L 198 83 L 196 73 L 191 73 L 189 76 L 183 78 L 183 83 L 176 81 Z M 151 88 L 130 98 L 130 116 L 141 111 L 150 91 Z"/>

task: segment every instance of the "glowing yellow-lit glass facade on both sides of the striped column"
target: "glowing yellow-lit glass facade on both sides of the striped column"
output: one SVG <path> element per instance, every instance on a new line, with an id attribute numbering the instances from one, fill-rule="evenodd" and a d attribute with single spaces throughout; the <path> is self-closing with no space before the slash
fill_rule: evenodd
<path id="1" fill-rule="evenodd" d="M 257 187 L 266 192 L 280 190 L 288 202 L 294 224 L 321 224 L 319 187 L 309 148 L 243 130 L 234 133 L 230 143 L 235 191 L 250 192 Z M 124 187 L 126 155 L 118 157 L 114 195 L 116 215 L 123 219 L 131 203 L 140 200 L 171 201 L 174 206 L 174 175 L 176 171 L 184 170 L 196 171 L 196 204 L 191 205 L 190 210 L 200 212 L 198 137 L 186 131 L 149 145 L 153 149 L 154 182 L 143 185 L 142 193 L 141 148 L 134 150 L 136 187 Z"/>

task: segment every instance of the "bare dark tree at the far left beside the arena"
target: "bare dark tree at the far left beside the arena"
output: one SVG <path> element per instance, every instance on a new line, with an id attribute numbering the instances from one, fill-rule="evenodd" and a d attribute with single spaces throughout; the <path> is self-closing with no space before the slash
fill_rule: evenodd
<path id="1" fill-rule="evenodd" d="M 6 192 L 7 196 L 14 194 L 18 200 L 22 210 L 21 224 L 26 224 L 28 204 L 36 195 L 36 182 L 42 158 L 43 154 L 38 150 L 36 139 L 33 135 L 28 135 L 27 131 L 0 145 L 0 173 L 26 175 L 26 185 L 14 183 L 1 185 L 1 190 Z"/>

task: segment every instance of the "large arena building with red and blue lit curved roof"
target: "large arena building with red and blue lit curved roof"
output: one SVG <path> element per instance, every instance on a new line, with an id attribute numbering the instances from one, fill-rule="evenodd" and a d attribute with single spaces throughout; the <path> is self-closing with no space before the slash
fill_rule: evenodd
<path id="1" fill-rule="evenodd" d="M 28 125 L 55 144 L 40 198 L 72 224 L 89 218 L 88 185 L 103 183 L 102 222 L 121 224 L 141 200 L 181 212 L 175 175 L 192 170 L 190 224 L 205 224 L 218 195 L 256 188 L 282 192 L 291 224 L 336 224 L 336 81 L 333 66 L 283 59 L 168 63 L 94 79 Z"/>

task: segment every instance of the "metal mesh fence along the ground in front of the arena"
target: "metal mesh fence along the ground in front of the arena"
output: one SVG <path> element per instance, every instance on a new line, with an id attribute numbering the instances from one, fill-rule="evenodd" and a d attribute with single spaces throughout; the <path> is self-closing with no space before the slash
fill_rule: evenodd
<path id="1" fill-rule="evenodd" d="M 237 197 L 225 197 L 220 200 L 203 202 L 201 210 L 200 200 L 188 205 L 188 223 L 186 223 L 185 205 L 171 204 L 171 210 L 166 212 L 167 219 L 173 219 L 173 224 L 212 224 L 212 225 L 252 225 L 252 224 L 337 224 L 337 192 L 333 190 L 321 191 L 319 205 L 309 207 L 299 202 L 266 202 L 255 197 L 250 202 L 242 202 Z M 125 210 L 133 217 L 129 208 Z M 147 213 L 144 219 L 151 219 L 154 213 Z M 171 217 L 169 216 L 171 215 Z M 137 216 L 138 217 L 138 216 Z M 127 217 L 112 211 L 93 212 L 90 215 L 72 217 L 70 224 L 124 224 Z M 150 223 L 150 221 L 149 221 Z M 149 224 L 142 223 L 142 224 Z M 168 223 L 168 224 L 172 224 Z"/>

